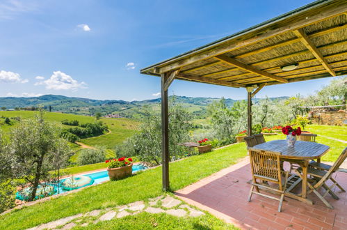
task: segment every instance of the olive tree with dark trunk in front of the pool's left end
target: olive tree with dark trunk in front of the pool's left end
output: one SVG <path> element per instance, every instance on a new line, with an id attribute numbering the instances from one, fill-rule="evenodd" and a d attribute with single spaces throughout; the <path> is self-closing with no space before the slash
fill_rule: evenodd
<path id="1" fill-rule="evenodd" d="M 8 158 L 13 178 L 31 184 L 29 201 L 35 199 L 38 185 L 51 177 L 49 171 L 65 164 L 70 148 L 60 138 L 61 128 L 45 121 L 43 112 L 21 121 L 9 134 Z"/>

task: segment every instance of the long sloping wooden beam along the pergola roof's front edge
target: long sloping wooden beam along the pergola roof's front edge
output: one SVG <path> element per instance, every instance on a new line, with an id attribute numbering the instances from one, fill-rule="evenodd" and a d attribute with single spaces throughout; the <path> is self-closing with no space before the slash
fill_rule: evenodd
<path id="1" fill-rule="evenodd" d="M 300 29 L 310 24 L 321 22 L 330 17 L 336 17 L 337 15 L 344 14 L 347 11 L 347 4 L 343 2 L 336 1 L 335 4 L 330 4 L 330 6 L 328 7 L 329 7 L 328 9 L 323 10 L 322 12 L 319 12 L 322 9 L 320 8 L 316 9 L 316 13 L 312 13 L 310 17 L 304 16 L 304 17 L 301 17 L 300 19 L 296 19 L 295 21 L 291 20 L 291 24 L 282 23 L 281 26 L 273 26 L 272 28 L 270 27 L 270 25 L 266 25 L 267 27 L 264 26 L 264 28 L 258 28 L 257 30 L 255 30 L 257 31 L 257 33 L 255 33 L 254 36 L 250 36 L 249 38 L 245 40 L 237 41 L 239 37 L 230 38 L 229 40 L 223 40 L 223 41 L 220 41 L 219 43 L 209 45 L 204 49 L 200 49 L 199 53 L 191 52 L 183 56 L 180 56 L 179 59 L 171 59 L 169 61 L 163 62 L 159 64 L 160 72 L 168 72 L 171 70 L 175 70 L 181 66 L 187 66 L 196 61 L 208 59 L 213 56 L 230 52 L 234 49 L 239 49 L 241 47 L 245 47 L 250 44 L 258 43 L 261 40 L 272 38 L 274 36 L 287 33 L 289 31 L 293 31 L 296 29 Z M 261 29 L 264 29 L 264 31 L 259 32 L 261 31 Z M 231 42 L 227 43 L 230 40 L 234 40 L 234 43 L 231 43 Z M 222 43 L 225 43 L 225 45 L 221 45 Z M 147 69 L 144 69 L 143 72 L 145 72 L 146 70 Z"/>

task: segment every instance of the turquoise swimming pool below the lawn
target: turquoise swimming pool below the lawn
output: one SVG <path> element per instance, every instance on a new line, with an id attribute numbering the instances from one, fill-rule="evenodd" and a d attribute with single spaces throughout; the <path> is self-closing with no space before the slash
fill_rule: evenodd
<path id="1" fill-rule="evenodd" d="M 147 169 L 147 167 L 145 167 L 145 165 L 143 164 L 134 164 L 133 165 L 133 174 L 136 173 L 137 171 L 140 170 L 145 170 Z M 71 183 L 73 184 L 74 181 L 79 181 L 80 178 L 88 178 L 88 181 L 86 181 L 86 184 L 82 184 L 80 185 L 74 185 L 72 187 L 65 187 L 65 183 L 67 181 L 72 181 Z M 102 183 L 104 181 L 109 181 L 110 178 L 108 178 L 108 173 L 107 170 L 103 170 L 103 171 L 97 171 L 95 173 L 92 174 L 82 174 L 79 176 L 72 176 L 72 177 L 68 177 L 68 178 L 64 178 L 63 180 L 60 181 L 60 183 L 58 184 L 49 184 L 49 185 L 45 185 L 45 190 L 47 191 L 47 188 L 49 188 L 49 194 L 50 195 L 55 195 L 55 194 L 60 194 L 60 193 L 65 193 L 68 192 L 70 190 L 76 190 L 80 187 L 86 187 L 89 185 L 95 185 L 95 184 L 99 184 Z M 45 191 L 43 189 L 43 187 L 41 185 L 39 185 L 39 189 L 40 191 L 42 191 L 41 193 L 38 192 L 38 197 L 36 197 L 36 199 L 40 199 L 42 197 L 45 197 L 44 192 Z M 20 199 L 20 200 L 27 200 L 29 198 L 29 195 L 31 194 L 31 187 L 26 187 L 24 188 L 24 190 L 22 190 L 21 192 L 17 192 L 16 194 L 16 199 Z"/>

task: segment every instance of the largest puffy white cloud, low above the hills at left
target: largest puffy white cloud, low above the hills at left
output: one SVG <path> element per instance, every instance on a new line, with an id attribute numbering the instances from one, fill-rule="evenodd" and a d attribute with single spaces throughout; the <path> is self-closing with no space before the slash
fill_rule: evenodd
<path id="1" fill-rule="evenodd" d="M 77 82 L 70 75 L 64 72 L 54 71 L 53 75 L 49 79 L 41 82 L 36 82 L 35 86 L 45 85 L 46 89 L 54 90 L 77 90 L 77 89 L 88 89 L 85 82 Z"/>

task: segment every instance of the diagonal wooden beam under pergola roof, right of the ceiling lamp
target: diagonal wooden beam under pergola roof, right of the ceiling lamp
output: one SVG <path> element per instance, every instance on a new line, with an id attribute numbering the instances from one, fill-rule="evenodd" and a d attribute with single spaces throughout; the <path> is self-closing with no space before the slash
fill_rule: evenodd
<path id="1" fill-rule="evenodd" d="M 309 37 L 306 35 L 306 33 L 302 29 L 298 29 L 296 31 L 293 31 L 295 35 L 300 38 L 301 42 L 309 49 L 310 52 L 318 59 L 318 61 L 324 66 L 325 70 L 330 72 L 332 76 L 336 76 L 336 73 L 332 68 L 330 67 L 329 63 L 323 58 L 323 55 L 321 52 L 317 49 L 316 45 L 312 43 L 312 40 L 309 39 Z"/>

